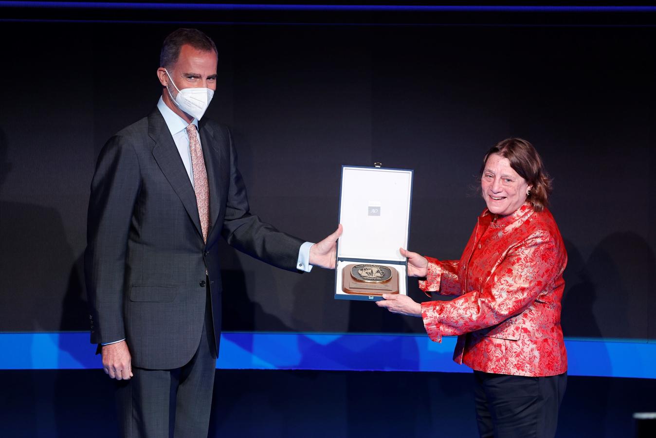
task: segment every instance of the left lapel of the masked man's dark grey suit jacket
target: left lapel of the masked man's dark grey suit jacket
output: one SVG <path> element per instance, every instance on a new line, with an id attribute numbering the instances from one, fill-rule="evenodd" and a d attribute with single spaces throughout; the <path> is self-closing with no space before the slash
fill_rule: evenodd
<path id="1" fill-rule="evenodd" d="M 169 132 L 169 128 L 158 109 L 155 109 L 148 116 L 148 135 L 155 141 L 153 157 L 157 161 L 159 169 L 161 169 L 180 201 L 182 201 L 184 209 L 187 210 L 187 214 L 189 214 L 199 235 L 202 237 L 201 220 L 198 216 L 198 206 L 196 205 L 196 195 L 192 182 L 184 169 L 184 164 L 180 158 L 178 148 L 173 142 L 171 132 Z"/>

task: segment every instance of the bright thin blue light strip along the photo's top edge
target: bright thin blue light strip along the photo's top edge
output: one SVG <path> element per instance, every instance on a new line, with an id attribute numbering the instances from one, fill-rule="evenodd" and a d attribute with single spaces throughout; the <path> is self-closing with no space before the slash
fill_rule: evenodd
<path id="1" fill-rule="evenodd" d="M 0 1 L 0 7 L 157 10 L 345 10 L 409 12 L 656 12 L 653 6 L 415 6 L 415 5 L 239 5 L 235 3 L 140 3 L 90 1 Z"/>

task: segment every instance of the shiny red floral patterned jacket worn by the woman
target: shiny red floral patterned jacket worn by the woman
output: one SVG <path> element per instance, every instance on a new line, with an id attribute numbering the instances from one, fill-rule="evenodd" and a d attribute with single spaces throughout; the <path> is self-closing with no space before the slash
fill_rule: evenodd
<path id="1" fill-rule="evenodd" d="M 560 328 L 567 253 L 554 217 L 525 203 L 495 219 L 487 209 L 460 260 L 428 258 L 419 287 L 456 295 L 421 305 L 428 336 L 458 335 L 453 360 L 474 370 L 553 376 L 567 370 Z"/>

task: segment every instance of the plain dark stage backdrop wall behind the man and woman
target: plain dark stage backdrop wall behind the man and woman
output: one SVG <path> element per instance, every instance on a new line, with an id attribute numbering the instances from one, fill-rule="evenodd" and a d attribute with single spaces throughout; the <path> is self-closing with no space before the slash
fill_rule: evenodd
<path id="1" fill-rule="evenodd" d="M 199 17 L 200 18 L 200 17 Z M 251 208 L 310 241 L 337 226 L 341 165 L 415 170 L 410 249 L 459 258 L 482 155 L 533 142 L 569 253 L 566 336 L 656 338 L 655 30 L 622 26 L 199 24 Z M 3 22 L 1 331 L 87 330 L 82 257 L 104 142 L 151 111 L 176 24 Z M 422 332 L 222 248 L 224 330 Z M 425 300 L 417 281 L 409 294 Z"/>

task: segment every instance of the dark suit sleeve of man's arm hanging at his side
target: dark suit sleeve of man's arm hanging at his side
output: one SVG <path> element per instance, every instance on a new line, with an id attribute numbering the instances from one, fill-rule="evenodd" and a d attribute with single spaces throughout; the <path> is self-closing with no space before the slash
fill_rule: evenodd
<path id="1" fill-rule="evenodd" d="M 87 215 L 85 274 L 94 344 L 125 338 L 125 258 L 139 188 L 140 171 L 134 148 L 127 138 L 113 136 L 96 163 Z"/>

